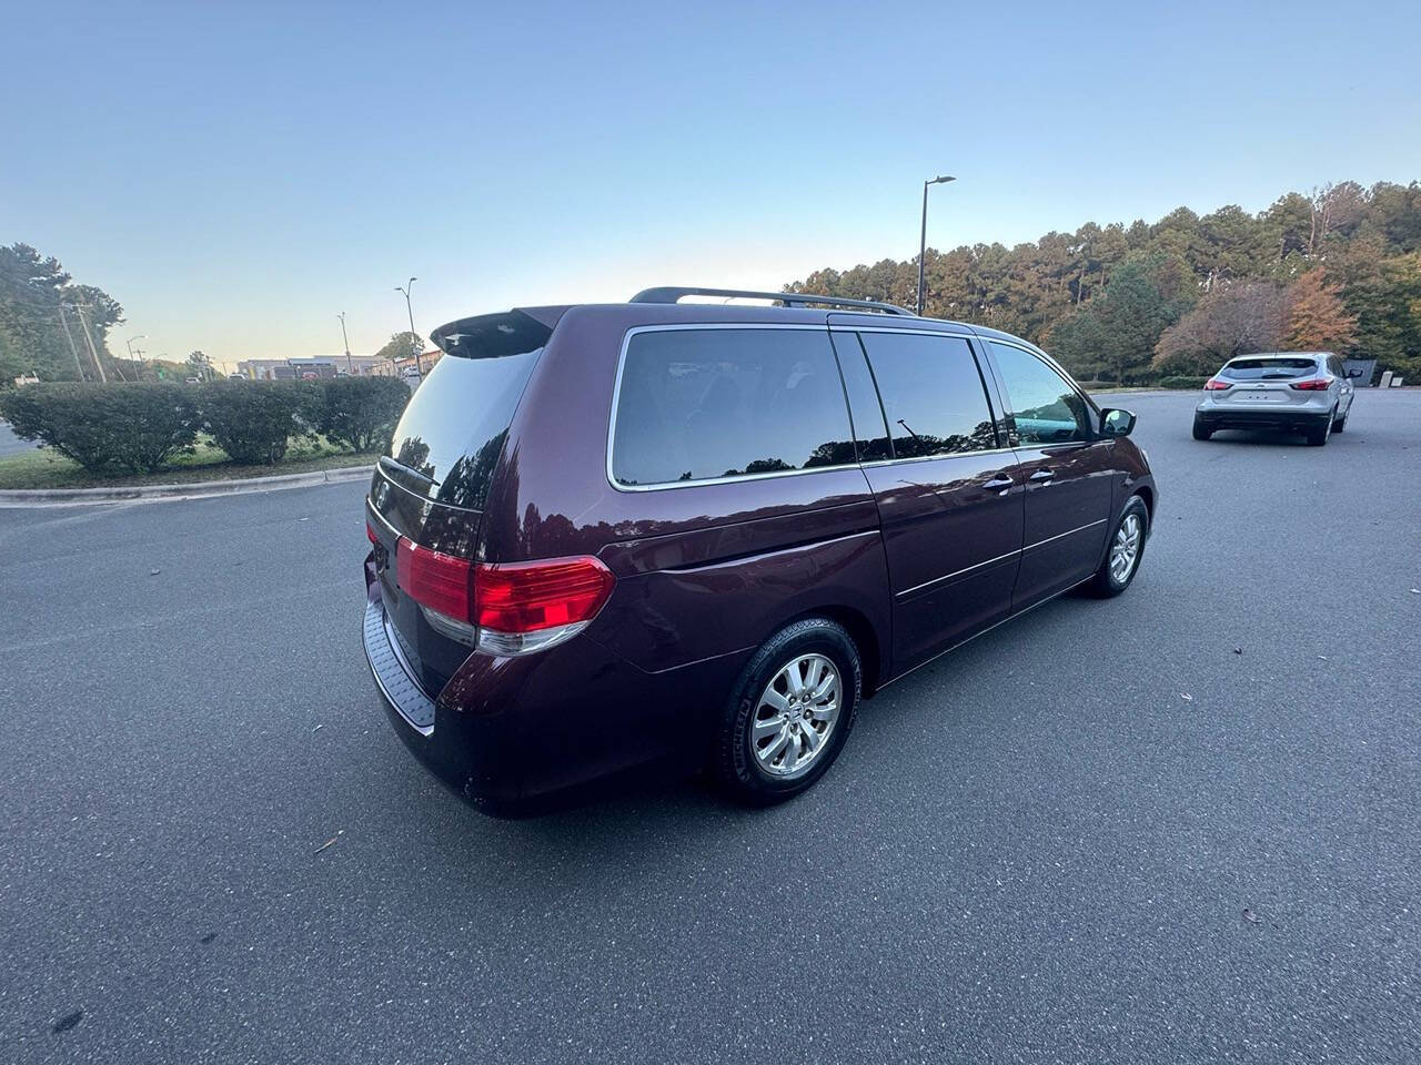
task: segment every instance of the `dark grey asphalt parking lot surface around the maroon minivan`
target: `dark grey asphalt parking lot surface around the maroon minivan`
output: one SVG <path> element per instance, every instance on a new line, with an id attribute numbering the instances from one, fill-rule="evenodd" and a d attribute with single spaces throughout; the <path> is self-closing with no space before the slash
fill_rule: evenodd
<path id="1" fill-rule="evenodd" d="M 0 1061 L 1417 1061 L 1421 392 L 1324 449 L 1103 400 L 1161 487 L 1130 592 L 759 812 L 442 791 L 365 672 L 361 484 L 0 510 Z"/>

